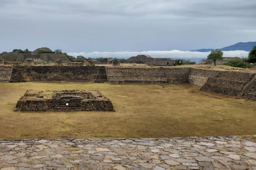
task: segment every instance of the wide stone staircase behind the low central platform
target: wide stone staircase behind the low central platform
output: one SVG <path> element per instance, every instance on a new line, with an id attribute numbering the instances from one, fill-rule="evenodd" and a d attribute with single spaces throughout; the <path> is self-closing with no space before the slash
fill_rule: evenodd
<path id="1" fill-rule="evenodd" d="M 104 66 L 31 66 L 13 67 L 11 82 L 49 82 L 49 83 L 105 83 L 108 82 Z M 21 72 L 24 72 L 23 77 Z M 25 78 L 24 78 L 25 77 Z"/>

